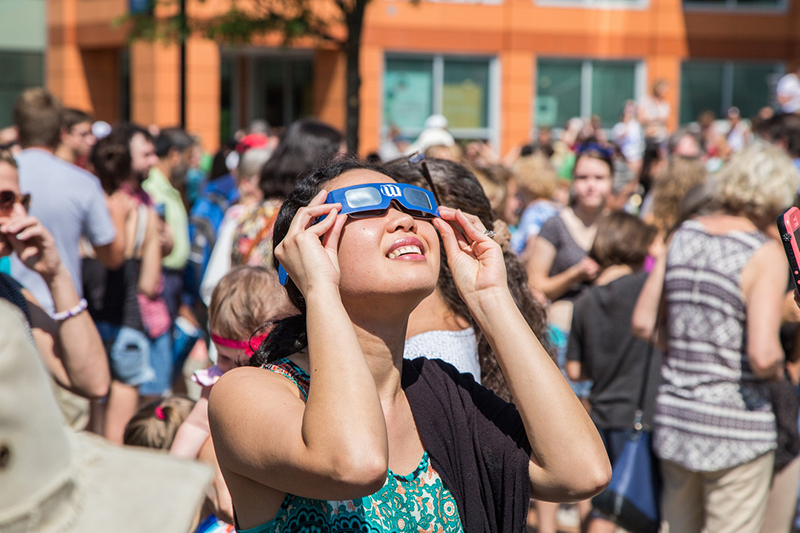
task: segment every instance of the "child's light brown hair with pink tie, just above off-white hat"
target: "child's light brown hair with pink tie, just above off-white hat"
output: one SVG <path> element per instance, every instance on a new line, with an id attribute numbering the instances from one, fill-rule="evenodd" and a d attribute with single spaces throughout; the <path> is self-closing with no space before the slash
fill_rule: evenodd
<path id="1" fill-rule="evenodd" d="M 148 403 L 125 426 L 122 442 L 156 450 L 169 450 L 175 434 L 194 407 L 194 400 L 173 395 Z"/>

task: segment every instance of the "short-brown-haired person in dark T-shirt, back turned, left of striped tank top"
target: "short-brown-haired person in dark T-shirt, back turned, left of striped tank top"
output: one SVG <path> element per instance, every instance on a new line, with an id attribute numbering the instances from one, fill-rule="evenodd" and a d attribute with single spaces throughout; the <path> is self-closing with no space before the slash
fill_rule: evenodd
<path id="1" fill-rule="evenodd" d="M 594 287 L 576 302 L 567 345 L 567 375 L 591 380 L 589 412 L 613 465 L 633 431 L 634 412 L 660 353 L 647 361 L 648 346 L 631 333 L 636 299 L 647 280 L 642 270 L 656 229 L 634 215 L 617 211 L 597 226 L 589 257 L 601 271 Z M 590 515 L 591 516 L 591 515 Z M 588 531 L 614 533 L 616 525 L 592 517 Z"/>

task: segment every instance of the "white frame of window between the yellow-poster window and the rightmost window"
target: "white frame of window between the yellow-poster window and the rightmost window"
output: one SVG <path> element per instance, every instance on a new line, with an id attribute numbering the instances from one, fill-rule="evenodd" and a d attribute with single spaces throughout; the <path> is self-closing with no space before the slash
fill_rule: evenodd
<path id="1" fill-rule="evenodd" d="M 647 92 L 647 63 L 643 58 L 635 57 L 635 58 L 613 58 L 613 59 L 606 59 L 606 58 L 597 58 L 597 57 L 565 57 L 565 56 L 536 56 L 534 57 L 534 69 L 536 72 L 536 77 L 533 80 L 533 117 L 532 117 L 532 124 L 531 124 L 531 135 L 537 131 L 539 127 L 541 127 L 537 123 L 538 113 L 537 110 L 537 101 L 539 98 L 539 76 L 541 75 L 541 70 L 539 68 L 540 61 L 572 61 L 580 65 L 581 69 L 581 85 L 580 85 L 580 118 L 587 118 L 592 116 L 592 71 L 594 69 L 595 63 L 632 63 L 634 72 L 633 72 L 633 99 L 637 102 L 644 96 Z M 560 130 L 563 128 L 563 124 L 554 124 L 550 127 L 554 130 Z"/>

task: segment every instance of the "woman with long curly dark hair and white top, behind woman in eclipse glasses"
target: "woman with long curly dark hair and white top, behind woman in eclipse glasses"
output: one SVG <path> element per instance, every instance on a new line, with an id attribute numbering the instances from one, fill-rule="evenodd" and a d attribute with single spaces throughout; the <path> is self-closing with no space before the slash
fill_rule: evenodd
<path id="1" fill-rule="evenodd" d="M 477 178 L 466 167 L 443 159 L 427 161 L 426 167 L 432 183 L 425 179 L 426 169 L 421 164 L 410 163 L 408 159 L 396 160 L 386 168 L 401 183 L 410 183 L 432 192 L 435 190 L 442 205 L 477 216 L 484 226 L 495 233 L 494 238 L 503 248 L 508 286 L 514 301 L 531 330 L 538 338 L 544 338 L 544 309 L 533 300 L 525 270 L 508 249 L 505 224 L 493 217 L 489 199 L 483 194 Z M 409 316 L 403 356 L 406 359 L 441 359 L 460 372 L 471 374 L 475 381 L 504 400 L 511 401 L 497 358 L 467 305 L 459 297 L 443 250 L 440 268 L 439 281 L 433 293 L 422 300 Z"/>

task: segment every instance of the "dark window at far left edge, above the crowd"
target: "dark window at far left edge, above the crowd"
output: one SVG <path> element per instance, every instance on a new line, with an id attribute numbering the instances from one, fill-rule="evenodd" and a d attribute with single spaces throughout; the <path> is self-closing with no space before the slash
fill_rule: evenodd
<path id="1" fill-rule="evenodd" d="M 44 83 L 44 54 L 0 50 L 0 128 L 13 123 L 14 102 L 25 89 Z"/>

